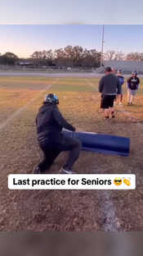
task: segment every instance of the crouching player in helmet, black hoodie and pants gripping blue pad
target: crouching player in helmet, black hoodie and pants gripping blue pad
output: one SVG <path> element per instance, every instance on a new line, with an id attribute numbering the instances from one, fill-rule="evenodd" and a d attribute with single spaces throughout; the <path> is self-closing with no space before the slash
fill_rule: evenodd
<path id="1" fill-rule="evenodd" d="M 44 158 L 42 162 L 34 167 L 34 174 L 42 174 L 49 170 L 62 151 L 69 151 L 69 157 L 65 165 L 61 167 L 60 173 L 74 174 L 72 167 L 78 159 L 82 144 L 77 139 L 63 135 L 62 128 L 77 132 L 83 132 L 83 130 L 71 126 L 60 113 L 57 104 L 59 104 L 59 98 L 55 94 L 47 94 L 36 117 L 38 144 L 42 149 Z"/>

